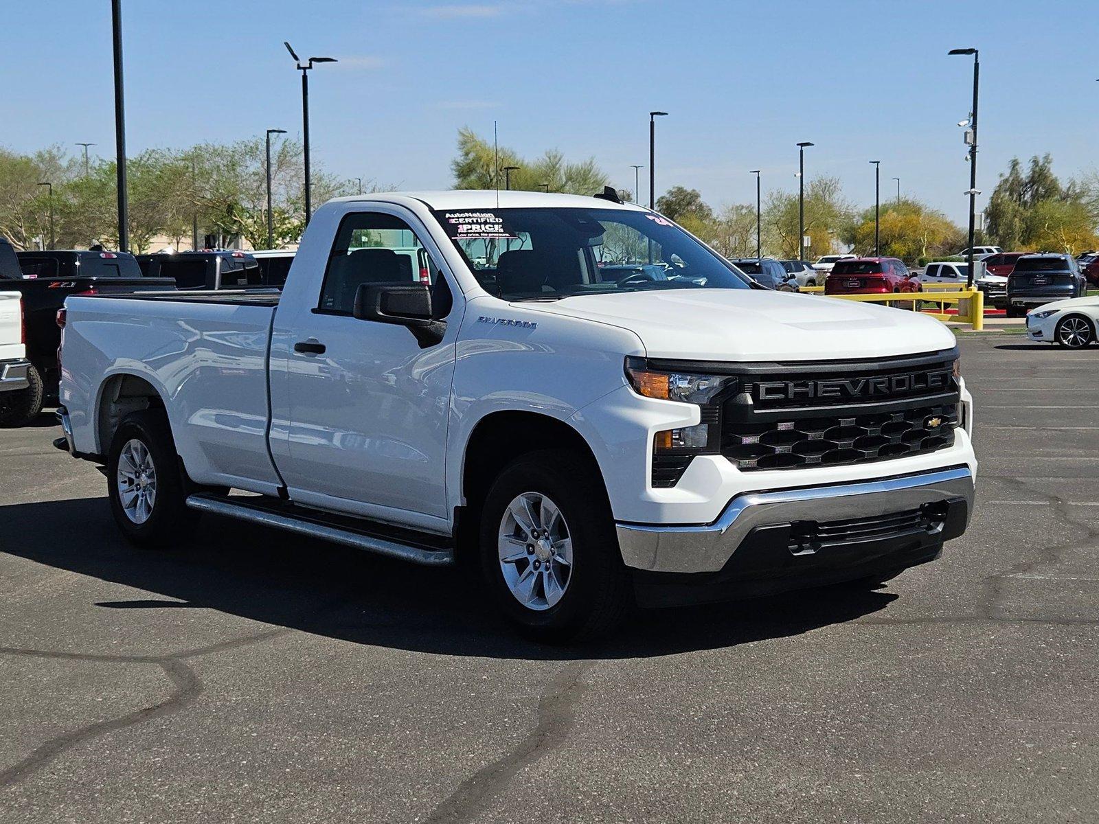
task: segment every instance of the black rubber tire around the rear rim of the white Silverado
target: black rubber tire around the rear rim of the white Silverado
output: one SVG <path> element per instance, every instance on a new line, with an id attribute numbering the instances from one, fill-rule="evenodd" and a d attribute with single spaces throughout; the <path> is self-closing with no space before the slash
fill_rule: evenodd
<path id="1" fill-rule="evenodd" d="M 140 522 L 126 513 L 119 477 L 123 449 L 133 441 L 148 453 L 155 491 L 148 512 Z M 197 513 L 185 504 L 185 478 L 168 419 L 162 410 L 131 412 L 122 420 L 108 453 L 107 483 L 114 522 L 126 539 L 137 546 L 158 548 L 178 544 L 189 535 L 198 520 Z"/>

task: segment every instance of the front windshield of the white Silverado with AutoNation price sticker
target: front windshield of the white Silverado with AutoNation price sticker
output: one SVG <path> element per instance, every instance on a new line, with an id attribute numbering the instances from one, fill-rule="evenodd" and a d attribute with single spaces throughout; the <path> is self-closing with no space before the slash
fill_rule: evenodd
<path id="1" fill-rule="evenodd" d="M 486 291 L 504 300 L 657 289 L 750 289 L 670 221 L 625 209 L 435 211 Z"/>

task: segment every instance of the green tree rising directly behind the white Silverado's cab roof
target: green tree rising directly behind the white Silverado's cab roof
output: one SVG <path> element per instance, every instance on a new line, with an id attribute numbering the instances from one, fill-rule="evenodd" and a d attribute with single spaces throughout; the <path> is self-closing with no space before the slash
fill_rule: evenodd
<path id="1" fill-rule="evenodd" d="M 513 149 L 500 146 L 498 166 L 491 141 L 480 137 L 471 129 L 458 130 L 458 154 L 451 162 L 455 189 L 503 189 L 503 169 L 507 166 L 518 167 L 510 172 L 512 189 L 595 194 L 610 182 L 595 158 L 569 163 L 557 149 L 550 149 L 537 159 L 528 162 Z M 497 168 L 500 169 L 499 175 Z"/>

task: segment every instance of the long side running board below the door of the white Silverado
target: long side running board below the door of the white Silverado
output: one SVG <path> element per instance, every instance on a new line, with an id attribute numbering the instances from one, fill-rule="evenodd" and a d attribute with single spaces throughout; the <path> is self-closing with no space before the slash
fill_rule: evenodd
<path id="1" fill-rule="evenodd" d="M 299 506 L 292 508 L 295 511 L 287 511 L 291 508 L 282 508 L 280 511 L 277 506 L 251 503 L 247 498 L 237 502 L 232 498 L 206 493 L 188 495 L 187 506 L 199 512 L 211 512 L 215 515 L 271 526 L 297 535 L 331 541 L 333 544 L 342 544 L 354 549 L 364 549 L 368 553 L 386 555 L 425 567 L 448 567 L 454 564 L 453 547 L 418 546 L 411 541 L 406 543 L 393 537 L 370 534 L 348 525 L 347 522 L 351 519 L 340 515 L 329 516 L 318 510 L 301 511 Z M 331 522 L 328 522 L 330 520 Z"/>

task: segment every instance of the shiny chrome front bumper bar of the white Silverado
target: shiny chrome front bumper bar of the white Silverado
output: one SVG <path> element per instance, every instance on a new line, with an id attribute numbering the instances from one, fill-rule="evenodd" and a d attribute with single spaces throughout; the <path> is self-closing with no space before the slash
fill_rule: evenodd
<path id="1" fill-rule="evenodd" d="M 759 527 L 889 515 L 957 499 L 965 501 L 968 523 L 974 502 L 968 467 L 831 487 L 746 492 L 730 501 L 712 524 L 619 523 L 618 538 L 628 567 L 653 572 L 717 572 Z"/>

